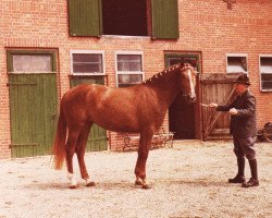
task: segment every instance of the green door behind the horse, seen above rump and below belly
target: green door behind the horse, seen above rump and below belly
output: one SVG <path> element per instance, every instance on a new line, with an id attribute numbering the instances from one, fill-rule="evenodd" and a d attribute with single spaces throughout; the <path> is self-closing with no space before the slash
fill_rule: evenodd
<path id="1" fill-rule="evenodd" d="M 103 84 L 103 76 L 73 76 L 71 78 L 71 87 L 74 87 L 79 84 Z M 92 124 L 86 150 L 107 150 L 107 131 L 104 129 L 98 126 L 97 124 Z"/>

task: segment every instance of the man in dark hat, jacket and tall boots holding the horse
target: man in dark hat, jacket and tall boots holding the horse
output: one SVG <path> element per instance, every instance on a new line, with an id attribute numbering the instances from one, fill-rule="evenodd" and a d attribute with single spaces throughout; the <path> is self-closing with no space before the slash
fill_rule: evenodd
<path id="1" fill-rule="evenodd" d="M 238 76 L 235 83 L 235 93 L 237 97 L 226 106 L 215 102 L 209 105 L 218 111 L 228 111 L 231 114 L 231 134 L 233 135 L 234 154 L 237 157 L 238 173 L 235 178 L 228 179 L 230 183 L 242 183 L 243 187 L 258 186 L 258 169 L 255 150 L 255 141 L 257 136 L 256 128 L 256 98 L 248 90 L 250 85 L 246 74 Z M 248 182 L 245 180 L 245 156 L 248 159 L 251 178 Z"/>

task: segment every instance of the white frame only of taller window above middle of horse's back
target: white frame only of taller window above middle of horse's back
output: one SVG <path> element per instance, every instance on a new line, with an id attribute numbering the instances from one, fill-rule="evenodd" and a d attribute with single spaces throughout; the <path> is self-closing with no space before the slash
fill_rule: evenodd
<path id="1" fill-rule="evenodd" d="M 118 70 L 118 56 L 119 55 L 140 55 L 141 56 L 141 71 L 119 71 Z M 119 87 L 119 75 L 123 74 L 141 74 L 143 81 L 145 81 L 145 73 L 144 73 L 144 52 L 143 51 L 115 51 L 115 81 L 116 81 L 116 87 Z"/>

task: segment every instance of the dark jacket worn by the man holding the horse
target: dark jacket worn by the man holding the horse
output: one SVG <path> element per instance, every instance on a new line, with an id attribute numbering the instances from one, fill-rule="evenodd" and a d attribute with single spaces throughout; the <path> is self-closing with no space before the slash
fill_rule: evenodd
<path id="1" fill-rule="evenodd" d="M 231 116 L 231 134 L 236 138 L 244 138 L 257 135 L 256 128 L 256 98 L 247 89 L 227 106 L 219 106 L 218 111 L 237 109 L 238 113 Z"/>

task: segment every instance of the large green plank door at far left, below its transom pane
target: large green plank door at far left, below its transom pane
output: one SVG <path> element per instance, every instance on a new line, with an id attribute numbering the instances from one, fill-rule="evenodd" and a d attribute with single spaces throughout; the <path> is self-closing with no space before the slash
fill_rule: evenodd
<path id="1" fill-rule="evenodd" d="M 9 74 L 11 156 L 51 154 L 55 130 L 57 74 Z"/>

